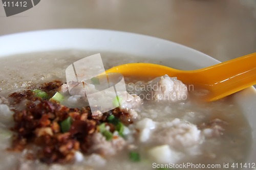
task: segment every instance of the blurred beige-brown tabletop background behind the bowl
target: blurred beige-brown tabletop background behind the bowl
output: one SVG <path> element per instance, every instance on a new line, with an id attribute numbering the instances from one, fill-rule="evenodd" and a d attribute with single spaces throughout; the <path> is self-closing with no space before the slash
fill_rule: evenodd
<path id="1" fill-rule="evenodd" d="M 256 0 L 42 0 L 10 17 L 0 6 L 0 36 L 60 28 L 145 34 L 226 61 L 256 52 Z"/>

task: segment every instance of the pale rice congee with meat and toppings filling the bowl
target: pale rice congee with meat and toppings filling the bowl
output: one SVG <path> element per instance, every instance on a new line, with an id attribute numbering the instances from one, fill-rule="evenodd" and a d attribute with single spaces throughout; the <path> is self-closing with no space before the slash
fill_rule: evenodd
<path id="1" fill-rule="evenodd" d="M 244 163 L 251 131 L 232 96 L 204 102 L 203 90 L 172 75 L 125 78 L 125 101 L 116 98 L 111 102 L 119 107 L 93 115 L 86 96 L 69 93 L 65 70 L 96 53 L 0 59 L 0 169 L 223 169 L 227 163 L 233 169 Z M 100 53 L 105 69 L 163 62 Z"/>

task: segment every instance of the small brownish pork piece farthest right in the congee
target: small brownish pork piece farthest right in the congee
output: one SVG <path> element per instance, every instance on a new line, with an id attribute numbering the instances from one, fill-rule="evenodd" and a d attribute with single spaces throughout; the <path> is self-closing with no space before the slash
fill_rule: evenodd
<path id="1" fill-rule="evenodd" d="M 202 129 L 205 137 L 220 137 L 225 131 L 225 129 L 223 128 L 225 125 L 227 125 L 226 122 L 219 118 L 216 118 L 210 120 L 210 122 L 207 124 L 203 123 L 200 128 Z"/>

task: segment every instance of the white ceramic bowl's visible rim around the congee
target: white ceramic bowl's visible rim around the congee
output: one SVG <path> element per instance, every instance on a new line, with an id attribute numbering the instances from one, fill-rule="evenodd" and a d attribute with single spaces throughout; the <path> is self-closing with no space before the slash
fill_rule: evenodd
<path id="1" fill-rule="evenodd" d="M 109 51 L 146 56 L 177 69 L 198 69 L 219 61 L 189 47 L 133 33 L 94 29 L 63 29 L 26 32 L 0 37 L 0 57 L 59 50 Z M 1 70 L 1 68 L 0 68 Z M 256 90 L 253 87 L 233 95 L 252 129 L 252 148 L 247 163 L 256 158 Z"/>

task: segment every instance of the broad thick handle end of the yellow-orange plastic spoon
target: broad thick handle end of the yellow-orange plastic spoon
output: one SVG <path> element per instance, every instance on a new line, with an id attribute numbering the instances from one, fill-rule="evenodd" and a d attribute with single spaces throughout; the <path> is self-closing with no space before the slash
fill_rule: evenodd
<path id="1" fill-rule="evenodd" d="M 256 84 L 256 53 L 195 71 L 201 75 L 198 81 L 210 86 L 210 101 L 215 101 Z"/>

